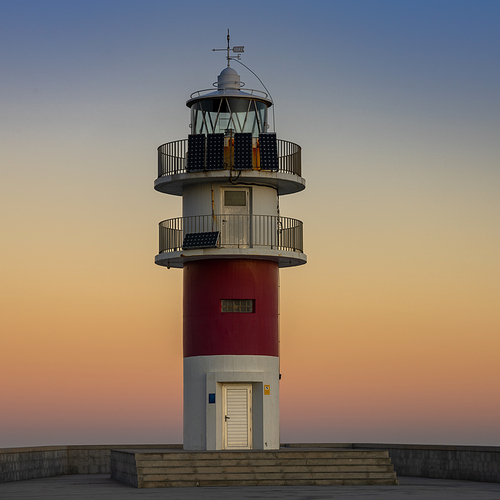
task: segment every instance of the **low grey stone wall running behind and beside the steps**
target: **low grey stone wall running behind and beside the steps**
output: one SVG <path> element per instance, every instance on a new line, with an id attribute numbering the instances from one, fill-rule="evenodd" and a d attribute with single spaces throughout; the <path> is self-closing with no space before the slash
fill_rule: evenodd
<path id="1" fill-rule="evenodd" d="M 481 481 L 483 484 L 485 482 L 500 483 L 500 447 L 498 446 L 292 443 L 284 444 L 282 447 L 294 450 L 303 448 L 384 450 L 389 452 L 389 457 L 399 477 L 446 478 L 448 480 Z M 5 483 L 8 482 L 18 482 L 25 479 L 38 480 L 37 478 L 48 478 L 61 474 L 107 473 L 109 477 L 111 449 L 148 449 L 149 451 L 157 449 L 160 450 L 158 453 L 161 453 L 161 450 L 182 450 L 183 447 L 182 444 L 108 444 L 0 448 L 0 485 L 4 483 L 0 486 L 0 497 L 5 497 Z M 322 489 L 322 491 L 327 490 Z M 372 490 L 370 489 L 370 491 Z M 475 491 L 475 493 L 478 492 Z M 68 498 L 70 496 L 68 495 Z M 24 498 L 23 495 L 19 495 L 19 497 Z M 500 495 L 490 495 L 487 498 L 497 497 L 500 498 Z M 427 499 L 427 497 L 425 498 Z M 449 498 L 459 497 L 449 495 Z M 478 496 L 466 496 L 466 498 L 478 498 Z"/>

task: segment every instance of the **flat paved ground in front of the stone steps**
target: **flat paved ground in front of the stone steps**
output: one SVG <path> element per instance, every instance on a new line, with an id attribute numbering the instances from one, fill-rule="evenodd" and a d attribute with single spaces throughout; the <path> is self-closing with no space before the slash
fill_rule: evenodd
<path id="1" fill-rule="evenodd" d="M 500 483 L 476 483 L 447 479 L 400 477 L 400 486 L 252 486 L 227 488 L 136 489 L 109 479 L 108 475 L 89 474 L 30 479 L 0 484 L 0 499 L 76 499 L 118 500 L 156 499 L 203 500 L 278 499 L 323 500 L 344 498 L 408 500 L 499 500 Z"/>

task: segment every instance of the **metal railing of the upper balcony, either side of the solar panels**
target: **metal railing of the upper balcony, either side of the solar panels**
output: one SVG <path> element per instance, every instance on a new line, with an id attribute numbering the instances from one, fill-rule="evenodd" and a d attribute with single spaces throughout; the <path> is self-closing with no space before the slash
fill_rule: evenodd
<path id="1" fill-rule="evenodd" d="M 301 177 L 301 148 L 298 144 L 276 139 L 278 147 L 278 172 L 295 174 Z M 188 140 L 181 139 L 162 144 L 158 147 L 158 177 L 186 173 Z M 260 170 L 257 163 L 259 155 L 253 155 L 253 169 Z M 230 167 L 228 167 L 229 169 Z"/>

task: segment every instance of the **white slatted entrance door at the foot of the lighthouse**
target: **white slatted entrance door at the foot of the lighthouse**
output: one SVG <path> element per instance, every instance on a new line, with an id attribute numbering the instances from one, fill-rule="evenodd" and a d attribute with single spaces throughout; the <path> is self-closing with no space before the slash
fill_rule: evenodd
<path id="1" fill-rule="evenodd" d="M 223 390 L 223 448 L 252 448 L 252 385 L 225 384 Z"/>

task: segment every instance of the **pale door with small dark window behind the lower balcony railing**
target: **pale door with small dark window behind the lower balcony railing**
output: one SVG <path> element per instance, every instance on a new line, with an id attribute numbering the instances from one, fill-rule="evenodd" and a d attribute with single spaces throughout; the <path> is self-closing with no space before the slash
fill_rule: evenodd
<path id="1" fill-rule="evenodd" d="M 246 247 L 250 244 L 250 188 L 221 189 L 221 244 Z"/>

